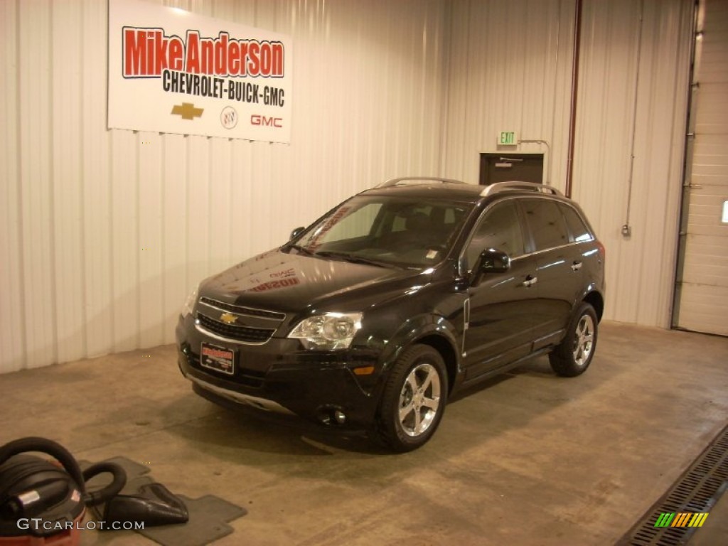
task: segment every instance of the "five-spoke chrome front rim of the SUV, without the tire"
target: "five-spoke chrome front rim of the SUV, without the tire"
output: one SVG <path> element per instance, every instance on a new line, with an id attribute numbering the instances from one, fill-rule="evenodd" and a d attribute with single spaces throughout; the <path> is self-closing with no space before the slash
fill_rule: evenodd
<path id="1" fill-rule="evenodd" d="M 399 417 L 406 435 L 422 435 L 440 409 L 440 376 L 427 363 L 416 365 L 405 379 L 400 392 Z"/>

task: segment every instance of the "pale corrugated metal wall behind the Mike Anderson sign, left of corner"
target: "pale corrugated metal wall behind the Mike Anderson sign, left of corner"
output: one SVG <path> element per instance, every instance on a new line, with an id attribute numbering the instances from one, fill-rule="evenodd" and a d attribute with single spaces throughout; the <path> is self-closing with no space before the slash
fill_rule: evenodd
<path id="1" fill-rule="evenodd" d="M 0 372 L 170 343 L 203 277 L 438 171 L 443 1 L 167 4 L 293 36 L 292 143 L 107 131 L 106 1 L 1 1 Z"/>

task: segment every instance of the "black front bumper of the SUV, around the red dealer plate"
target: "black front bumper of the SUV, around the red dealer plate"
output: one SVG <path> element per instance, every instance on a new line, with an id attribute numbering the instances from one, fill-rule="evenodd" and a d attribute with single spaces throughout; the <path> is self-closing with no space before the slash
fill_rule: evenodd
<path id="1" fill-rule="evenodd" d="M 199 331 L 191 315 L 180 317 L 175 333 L 180 371 L 196 391 L 209 393 L 211 396 L 206 397 L 210 400 L 221 399 L 272 414 L 293 414 L 343 430 L 373 427 L 380 381 L 376 354 L 370 350 L 314 352 L 303 349 L 297 339 L 281 338 L 264 344 L 221 341 Z M 237 353 L 232 375 L 200 365 L 202 341 Z M 374 366 L 374 373 L 355 374 L 356 368 L 368 366 Z"/>

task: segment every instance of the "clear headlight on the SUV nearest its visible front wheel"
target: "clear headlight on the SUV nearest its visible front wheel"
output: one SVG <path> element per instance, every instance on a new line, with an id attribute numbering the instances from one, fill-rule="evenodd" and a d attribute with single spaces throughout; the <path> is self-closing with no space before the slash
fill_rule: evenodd
<path id="1" fill-rule="evenodd" d="M 288 334 L 306 349 L 346 349 L 362 327 L 361 313 L 325 313 L 301 320 Z"/>

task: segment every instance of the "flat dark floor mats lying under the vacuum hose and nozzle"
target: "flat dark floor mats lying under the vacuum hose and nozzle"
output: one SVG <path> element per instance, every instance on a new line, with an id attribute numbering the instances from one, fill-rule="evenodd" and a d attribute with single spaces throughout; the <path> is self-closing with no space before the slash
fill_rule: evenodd
<path id="1" fill-rule="evenodd" d="M 138 464 L 126 457 L 114 457 L 113 459 L 106 459 L 106 462 L 115 462 L 127 472 L 127 484 L 122 489 L 122 494 L 134 494 L 145 483 L 154 483 L 156 481 L 149 475 L 149 467 Z M 91 465 L 87 461 L 81 461 L 80 464 L 82 469 Z M 108 477 L 99 475 L 89 480 L 87 488 L 93 491 L 94 488 L 107 483 L 106 480 L 108 480 Z M 199 499 L 190 499 L 187 496 L 178 494 L 178 491 L 173 491 L 173 493 L 179 496 L 187 506 L 189 521 L 179 525 L 148 526 L 146 529 L 135 532 L 154 540 L 154 542 L 162 546 L 203 546 L 231 534 L 233 529 L 227 523 L 236 518 L 242 518 L 248 513 L 245 508 L 227 502 L 218 496 L 205 495 L 199 497 Z"/>

